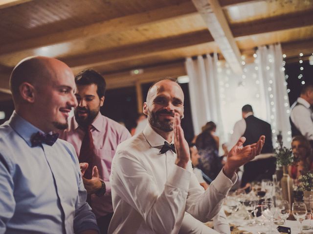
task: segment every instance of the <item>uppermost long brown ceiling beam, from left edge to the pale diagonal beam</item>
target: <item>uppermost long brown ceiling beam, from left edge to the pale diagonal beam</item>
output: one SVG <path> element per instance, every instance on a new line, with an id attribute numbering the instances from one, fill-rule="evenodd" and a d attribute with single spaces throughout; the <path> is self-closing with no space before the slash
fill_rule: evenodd
<path id="1" fill-rule="evenodd" d="M 189 14 L 197 13 L 190 1 L 184 1 L 176 5 L 157 8 L 151 11 L 128 15 L 111 20 L 105 20 L 89 24 L 71 30 L 45 35 L 42 37 L 25 39 L 13 43 L 1 45 L 0 54 L 16 52 L 25 49 L 38 48 L 73 39 L 86 38 L 100 34 L 121 31 L 138 27 L 139 25 L 155 23 L 157 21 L 169 20 Z"/>

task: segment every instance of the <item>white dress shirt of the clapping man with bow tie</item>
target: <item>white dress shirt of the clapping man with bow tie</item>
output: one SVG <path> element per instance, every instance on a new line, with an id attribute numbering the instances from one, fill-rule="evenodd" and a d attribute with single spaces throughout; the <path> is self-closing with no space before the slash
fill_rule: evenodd
<path id="1" fill-rule="evenodd" d="M 175 164 L 172 151 L 159 153 L 164 141 L 148 124 L 117 147 L 110 177 L 114 215 L 109 234 L 177 234 L 185 212 L 206 222 L 220 211 L 237 175 L 230 180 L 221 171 L 204 191 L 191 161 L 185 170 Z"/>

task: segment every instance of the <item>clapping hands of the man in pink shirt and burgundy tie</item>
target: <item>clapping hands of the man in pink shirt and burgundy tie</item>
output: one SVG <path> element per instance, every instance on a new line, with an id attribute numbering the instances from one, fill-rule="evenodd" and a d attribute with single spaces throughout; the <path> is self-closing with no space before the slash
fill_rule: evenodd
<path id="1" fill-rule="evenodd" d="M 84 177 L 84 174 L 88 168 L 88 163 L 80 163 L 80 170 L 83 176 L 83 182 L 84 182 L 84 186 L 85 189 L 87 190 L 87 194 L 94 194 L 95 192 L 97 192 L 99 189 L 101 189 L 101 181 L 99 178 L 99 171 L 97 166 L 94 166 L 92 169 L 92 177 L 91 179 L 86 179 Z"/>

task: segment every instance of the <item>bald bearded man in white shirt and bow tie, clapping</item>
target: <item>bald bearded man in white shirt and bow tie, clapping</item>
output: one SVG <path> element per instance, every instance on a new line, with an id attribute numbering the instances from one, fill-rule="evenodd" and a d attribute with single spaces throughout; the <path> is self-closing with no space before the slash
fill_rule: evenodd
<path id="1" fill-rule="evenodd" d="M 237 179 L 235 171 L 261 151 L 264 136 L 246 147 L 242 147 L 242 137 L 204 191 L 192 173 L 180 126 L 183 101 L 178 83 L 171 79 L 156 82 L 143 106 L 149 124 L 117 147 L 110 177 L 114 209 L 110 234 L 198 233 L 195 218 L 206 222 L 218 214 Z M 212 232 L 216 233 L 201 228 L 202 234 Z"/>

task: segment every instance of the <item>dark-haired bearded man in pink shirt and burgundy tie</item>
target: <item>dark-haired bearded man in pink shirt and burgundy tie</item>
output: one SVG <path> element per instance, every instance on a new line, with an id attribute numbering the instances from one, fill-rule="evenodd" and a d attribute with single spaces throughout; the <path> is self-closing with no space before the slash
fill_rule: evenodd
<path id="1" fill-rule="evenodd" d="M 106 82 L 99 73 L 82 71 L 75 77 L 75 82 L 78 106 L 61 137 L 75 148 L 89 205 L 96 215 L 101 234 L 105 234 L 113 213 L 109 181 L 112 158 L 117 145 L 131 136 L 124 126 L 101 115 Z"/>

